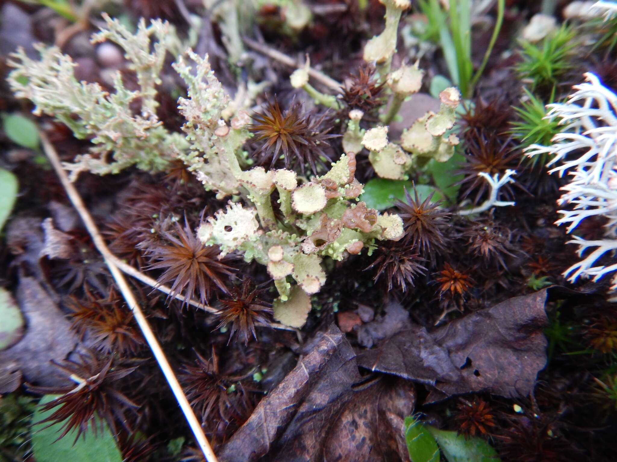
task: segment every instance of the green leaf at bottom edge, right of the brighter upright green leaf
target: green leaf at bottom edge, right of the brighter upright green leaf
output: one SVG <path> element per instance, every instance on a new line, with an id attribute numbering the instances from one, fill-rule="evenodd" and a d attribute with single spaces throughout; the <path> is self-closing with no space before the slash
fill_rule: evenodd
<path id="1" fill-rule="evenodd" d="M 497 451 L 482 438 L 465 439 L 457 432 L 431 426 L 426 429 L 435 437 L 448 462 L 501 462 Z"/>

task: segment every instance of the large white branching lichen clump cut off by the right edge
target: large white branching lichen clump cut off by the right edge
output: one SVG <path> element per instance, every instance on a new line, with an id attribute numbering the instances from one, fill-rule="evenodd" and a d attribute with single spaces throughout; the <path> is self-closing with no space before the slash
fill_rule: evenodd
<path id="1" fill-rule="evenodd" d="M 584 74 L 586 83 L 575 85 L 566 103 L 550 104 L 547 117 L 557 117 L 563 132 L 553 137 L 550 146 L 532 145 L 526 155 L 552 155 L 549 173 L 568 174 L 571 181 L 561 188 L 558 200 L 568 208 L 558 211 L 558 225 L 568 225 L 568 233 L 593 217 L 608 219 L 603 240 L 586 241 L 574 235 L 582 260 L 569 267 L 564 275 L 574 282 L 579 277 L 599 280 L 615 272 L 617 249 L 617 94 L 600 83 L 592 73 Z M 601 257 L 607 261 L 600 262 Z M 612 264 L 608 264 L 613 262 Z M 617 277 L 613 278 L 617 290 Z"/>

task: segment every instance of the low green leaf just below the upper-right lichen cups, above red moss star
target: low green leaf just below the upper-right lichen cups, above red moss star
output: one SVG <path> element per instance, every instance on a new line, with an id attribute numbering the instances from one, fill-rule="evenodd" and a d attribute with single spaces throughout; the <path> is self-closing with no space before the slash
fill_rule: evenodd
<path id="1" fill-rule="evenodd" d="M 405 200 L 404 188 L 407 188 L 413 196 L 414 187 L 411 181 L 373 178 L 364 185 L 364 192 L 360 196 L 360 200 L 365 201 L 368 208 L 385 210 L 392 207 L 397 199 Z M 420 200 L 424 200 L 432 192 L 435 192 L 433 202 L 444 198 L 439 191 L 429 185 L 416 185 L 415 190 L 418 192 Z"/>

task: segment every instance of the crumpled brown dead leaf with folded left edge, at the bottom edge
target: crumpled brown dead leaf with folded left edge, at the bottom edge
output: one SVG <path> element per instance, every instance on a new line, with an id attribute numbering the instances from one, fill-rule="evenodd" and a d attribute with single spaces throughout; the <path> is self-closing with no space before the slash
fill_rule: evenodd
<path id="1" fill-rule="evenodd" d="M 331 325 L 218 460 L 408 462 L 404 419 L 414 403 L 408 381 L 379 376 L 362 383 L 354 350 Z"/>

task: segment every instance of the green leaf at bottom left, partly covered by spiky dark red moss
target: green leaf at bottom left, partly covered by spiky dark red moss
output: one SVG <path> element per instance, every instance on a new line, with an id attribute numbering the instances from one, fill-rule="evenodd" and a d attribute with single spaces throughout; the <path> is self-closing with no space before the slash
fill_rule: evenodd
<path id="1" fill-rule="evenodd" d="M 41 399 L 33 416 L 33 422 L 39 422 L 54 412 L 54 410 L 43 411 L 40 405 L 55 398 L 54 395 L 45 395 Z M 64 438 L 56 441 L 62 424 L 56 423 L 45 428 L 46 425 L 48 423 L 35 424 L 31 429 L 32 451 L 36 462 L 73 460 L 80 462 L 122 462 L 122 454 L 116 445 L 114 436 L 109 431 L 107 424 L 100 420 L 94 423 L 96 434 L 93 426 L 90 425 L 74 445 L 75 430 L 68 432 Z"/>

